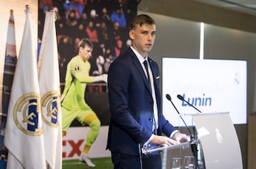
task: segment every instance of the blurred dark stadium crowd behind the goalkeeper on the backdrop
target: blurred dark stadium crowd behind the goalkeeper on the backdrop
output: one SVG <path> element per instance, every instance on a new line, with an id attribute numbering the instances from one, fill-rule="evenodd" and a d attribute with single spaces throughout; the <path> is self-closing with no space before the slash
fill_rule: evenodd
<path id="1" fill-rule="evenodd" d="M 111 62 L 129 45 L 129 23 L 137 15 L 137 0 L 39 0 L 38 51 L 46 11 L 54 10 L 58 38 L 61 90 L 64 89 L 66 66 L 78 54 L 78 43 L 89 38 L 94 49 L 90 75 L 107 74 Z M 106 83 L 88 83 L 85 101 L 95 110 L 102 125 L 110 122 Z M 73 127 L 80 126 L 74 121 Z"/>

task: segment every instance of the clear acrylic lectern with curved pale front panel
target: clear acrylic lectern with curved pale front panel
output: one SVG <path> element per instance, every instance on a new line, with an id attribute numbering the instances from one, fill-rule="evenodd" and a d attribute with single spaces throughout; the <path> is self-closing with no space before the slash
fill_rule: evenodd
<path id="1" fill-rule="evenodd" d="M 196 169 L 242 169 L 240 144 L 229 112 L 198 113 L 191 117 L 197 134 Z M 160 151 L 161 169 L 169 169 L 170 166 L 166 166 L 166 161 L 170 161 L 168 154 L 176 148 L 191 148 L 192 144 L 195 143 L 185 142 L 165 147 L 142 144 L 139 145 L 139 151 L 142 161 L 146 154 Z"/>

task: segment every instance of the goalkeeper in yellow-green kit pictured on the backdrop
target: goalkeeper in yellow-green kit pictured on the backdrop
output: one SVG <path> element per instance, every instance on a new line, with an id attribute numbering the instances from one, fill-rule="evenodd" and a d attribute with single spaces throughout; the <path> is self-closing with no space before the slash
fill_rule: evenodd
<path id="1" fill-rule="evenodd" d="M 61 95 L 61 111 L 63 118 L 63 133 L 65 133 L 73 120 L 77 119 L 81 124 L 88 124 L 90 131 L 87 134 L 85 146 L 79 157 L 79 161 L 85 162 L 90 167 L 95 164 L 90 161 L 88 152 L 94 143 L 100 130 L 100 120 L 95 112 L 85 103 L 85 88 L 87 83 L 104 81 L 107 83 L 107 74 L 90 76 L 90 62 L 93 45 L 90 40 L 84 38 L 79 43 L 79 53 L 70 60 L 65 76 L 65 88 Z"/>

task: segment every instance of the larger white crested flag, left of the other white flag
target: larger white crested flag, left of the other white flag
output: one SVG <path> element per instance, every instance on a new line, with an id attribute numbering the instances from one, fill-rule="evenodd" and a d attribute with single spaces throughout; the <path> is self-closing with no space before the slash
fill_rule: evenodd
<path id="1" fill-rule="evenodd" d="M 29 7 L 11 88 L 4 144 L 8 169 L 46 169 L 41 101 Z"/>

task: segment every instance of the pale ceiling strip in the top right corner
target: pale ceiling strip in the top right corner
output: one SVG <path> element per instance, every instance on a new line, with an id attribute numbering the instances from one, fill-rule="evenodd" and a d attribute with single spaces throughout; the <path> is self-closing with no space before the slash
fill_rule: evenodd
<path id="1" fill-rule="evenodd" d="M 256 16 L 256 0 L 194 0 L 203 4 L 209 4 Z"/>

